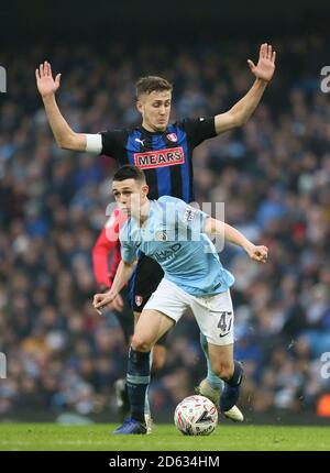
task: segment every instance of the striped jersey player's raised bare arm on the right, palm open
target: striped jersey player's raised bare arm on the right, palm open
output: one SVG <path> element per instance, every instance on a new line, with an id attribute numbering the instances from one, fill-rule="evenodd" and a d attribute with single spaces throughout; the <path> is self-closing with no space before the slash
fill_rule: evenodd
<path id="1" fill-rule="evenodd" d="M 274 75 L 275 59 L 276 52 L 273 51 L 272 45 L 267 43 L 261 45 L 256 65 L 251 59 L 248 59 L 250 69 L 255 76 L 255 81 L 248 94 L 230 110 L 215 117 L 216 132 L 218 134 L 246 123 L 261 101 L 264 90 Z"/>

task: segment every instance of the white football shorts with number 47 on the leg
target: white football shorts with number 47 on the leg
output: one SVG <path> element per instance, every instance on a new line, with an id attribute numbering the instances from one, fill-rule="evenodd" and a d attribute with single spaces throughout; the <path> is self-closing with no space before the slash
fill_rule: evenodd
<path id="1" fill-rule="evenodd" d="M 163 278 L 144 309 L 154 309 L 177 322 L 191 309 L 201 333 L 209 343 L 233 343 L 234 314 L 229 289 L 216 296 L 191 296 L 176 284 Z"/>

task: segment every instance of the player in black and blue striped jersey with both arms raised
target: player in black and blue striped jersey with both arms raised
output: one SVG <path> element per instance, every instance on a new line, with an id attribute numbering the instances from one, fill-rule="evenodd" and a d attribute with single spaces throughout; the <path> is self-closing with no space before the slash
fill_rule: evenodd
<path id="1" fill-rule="evenodd" d="M 55 99 L 61 74 L 54 79 L 50 63 L 41 64 L 35 70 L 35 77 L 48 122 L 61 147 L 108 155 L 117 160 L 119 165 L 140 167 L 145 173 L 151 199 L 168 195 L 191 202 L 194 148 L 205 140 L 243 125 L 250 119 L 273 77 L 275 56 L 272 45 L 261 45 L 257 64 L 248 61 L 255 77 L 254 84 L 228 111 L 208 118 L 187 118 L 176 123 L 169 123 L 172 85 L 161 77 L 143 77 L 136 84 L 141 125 L 99 134 L 77 133 L 68 125 Z M 161 266 L 141 253 L 130 282 L 131 305 L 136 317 L 162 278 Z M 216 391 L 221 388 L 210 369 L 206 383 L 200 386 L 200 393 L 205 395 L 206 385 Z"/>

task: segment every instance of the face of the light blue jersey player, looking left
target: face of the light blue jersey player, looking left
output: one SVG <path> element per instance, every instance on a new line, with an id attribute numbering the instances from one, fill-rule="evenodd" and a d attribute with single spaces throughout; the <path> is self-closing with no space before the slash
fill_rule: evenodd
<path id="1" fill-rule="evenodd" d="M 139 217 L 141 206 L 145 204 L 148 187 L 135 179 L 113 180 L 112 194 L 122 210 L 128 217 Z"/>

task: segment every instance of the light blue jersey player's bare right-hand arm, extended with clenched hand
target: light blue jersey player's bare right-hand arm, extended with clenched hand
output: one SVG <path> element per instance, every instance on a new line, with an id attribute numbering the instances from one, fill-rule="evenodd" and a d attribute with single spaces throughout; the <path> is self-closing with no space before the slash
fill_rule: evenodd
<path id="1" fill-rule="evenodd" d="M 230 243 L 234 243 L 246 251 L 252 260 L 261 263 L 266 263 L 268 256 L 268 249 L 264 245 L 255 245 L 248 240 L 243 233 L 228 223 L 221 222 L 212 218 L 208 218 L 205 223 L 205 232 L 223 237 Z"/>

